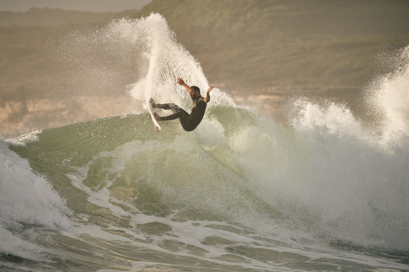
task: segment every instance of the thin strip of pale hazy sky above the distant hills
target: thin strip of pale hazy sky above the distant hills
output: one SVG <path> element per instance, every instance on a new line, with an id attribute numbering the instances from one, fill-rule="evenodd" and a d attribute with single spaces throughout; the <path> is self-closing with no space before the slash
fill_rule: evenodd
<path id="1" fill-rule="evenodd" d="M 82 11 L 141 9 L 151 0 L 0 0 L 0 11 L 27 11 L 32 7 Z"/>

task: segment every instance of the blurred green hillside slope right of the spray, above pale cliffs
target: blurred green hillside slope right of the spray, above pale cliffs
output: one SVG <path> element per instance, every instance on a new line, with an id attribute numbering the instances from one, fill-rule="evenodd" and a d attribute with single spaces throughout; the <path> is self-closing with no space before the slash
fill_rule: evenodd
<path id="1" fill-rule="evenodd" d="M 152 11 L 212 82 L 359 86 L 380 48 L 409 42 L 408 1 L 154 0 L 134 17 Z"/>

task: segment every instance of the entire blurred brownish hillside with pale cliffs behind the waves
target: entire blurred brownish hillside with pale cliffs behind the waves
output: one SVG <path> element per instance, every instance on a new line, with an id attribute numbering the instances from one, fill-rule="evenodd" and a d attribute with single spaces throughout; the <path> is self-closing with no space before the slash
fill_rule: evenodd
<path id="1" fill-rule="evenodd" d="M 85 96 L 105 95 L 109 101 L 134 82 L 131 75 L 118 69 L 117 80 L 104 81 L 58 48 L 75 31 L 151 12 L 167 19 L 209 82 L 238 100 L 270 95 L 261 99 L 274 106 L 293 87 L 353 101 L 362 84 L 389 71 L 379 56 L 388 59 L 409 43 L 409 2 L 399 0 L 153 0 L 142 10 L 120 13 L 0 12 L 0 133 L 121 114 L 122 104 L 92 111 L 85 104 L 95 99 Z M 130 60 L 123 63 L 126 70 L 138 68 Z M 250 98 L 257 104 L 258 96 Z M 63 122 L 57 120 L 61 116 Z"/>

